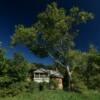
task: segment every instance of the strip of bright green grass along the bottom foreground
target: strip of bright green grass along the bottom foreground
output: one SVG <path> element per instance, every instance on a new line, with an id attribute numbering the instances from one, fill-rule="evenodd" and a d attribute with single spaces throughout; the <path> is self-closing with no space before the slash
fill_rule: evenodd
<path id="1" fill-rule="evenodd" d="M 93 91 L 83 94 L 65 91 L 34 91 L 32 94 L 23 93 L 15 97 L 0 98 L 0 100 L 100 100 L 100 94 Z"/>

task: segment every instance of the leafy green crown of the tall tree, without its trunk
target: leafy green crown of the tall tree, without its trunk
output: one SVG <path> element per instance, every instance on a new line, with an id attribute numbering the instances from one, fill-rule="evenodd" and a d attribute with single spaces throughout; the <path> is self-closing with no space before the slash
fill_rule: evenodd
<path id="1" fill-rule="evenodd" d="M 31 27 L 16 26 L 12 36 L 12 44 L 23 44 L 34 54 L 46 56 L 45 53 L 50 52 L 49 49 L 51 48 L 54 50 L 55 46 L 62 40 L 64 45 L 62 47 L 74 46 L 74 38 L 77 34 L 77 29 L 74 27 L 91 19 L 93 19 L 93 14 L 90 12 L 81 11 L 78 7 L 72 7 L 66 11 L 53 2 L 48 4 L 47 8 L 38 15 L 38 21 Z M 42 38 L 46 42 L 45 48 L 42 47 L 42 49 L 36 43 L 39 32 L 43 33 Z"/>

